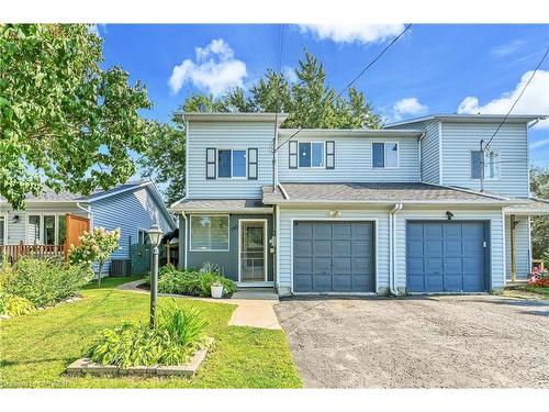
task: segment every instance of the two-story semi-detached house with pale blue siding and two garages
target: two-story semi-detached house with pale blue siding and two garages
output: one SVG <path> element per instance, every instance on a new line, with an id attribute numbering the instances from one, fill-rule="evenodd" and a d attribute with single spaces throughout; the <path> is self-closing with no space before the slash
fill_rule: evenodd
<path id="1" fill-rule="evenodd" d="M 503 116 L 299 133 L 284 114 L 183 116 L 183 267 L 279 294 L 490 292 L 529 272 L 530 216 L 549 213 L 529 198 L 540 116 L 509 116 L 483 152 Z"/>

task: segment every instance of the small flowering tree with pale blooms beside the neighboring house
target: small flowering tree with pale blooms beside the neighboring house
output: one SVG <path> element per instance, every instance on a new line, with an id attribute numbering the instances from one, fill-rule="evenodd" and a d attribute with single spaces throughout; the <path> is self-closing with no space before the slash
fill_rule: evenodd
<path id="1" fill-rule="evenodd" d="M 70 245 L 69 260 L 72 265 L 81 265 L 93 272 L 93 264 L 99 265 L 98 288 L 101 287 L 103 266 L 120 245 L 120 229 L 105 231 L 96 227 L 91 232 L 83 232 L 78 246 Z"/>

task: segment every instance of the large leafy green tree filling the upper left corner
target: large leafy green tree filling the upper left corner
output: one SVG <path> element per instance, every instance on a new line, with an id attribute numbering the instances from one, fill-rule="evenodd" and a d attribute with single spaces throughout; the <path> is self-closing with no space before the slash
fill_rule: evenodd
<path id="1" fill-rule="evenodd" d="M 44 189 L 89 194 L 125 182 L 132 151 L 157 123 L 120 67 L 102 69 L 102 40 L 85 24 L 0 24 L 0 196 L 14 209 Z"/>

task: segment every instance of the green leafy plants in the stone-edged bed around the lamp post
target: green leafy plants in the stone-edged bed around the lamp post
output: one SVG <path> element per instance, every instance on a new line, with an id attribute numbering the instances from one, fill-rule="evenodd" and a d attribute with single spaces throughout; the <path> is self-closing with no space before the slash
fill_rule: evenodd
<path id="1" fill-rule="evenodd" d="M 156 329 L 145 323 L 125 323 L 101 331 L 88 357 L 123 368 L 181 365 L 203 344 L 206 325 L 199 310 L 171 304 L 160 309 Z"/>

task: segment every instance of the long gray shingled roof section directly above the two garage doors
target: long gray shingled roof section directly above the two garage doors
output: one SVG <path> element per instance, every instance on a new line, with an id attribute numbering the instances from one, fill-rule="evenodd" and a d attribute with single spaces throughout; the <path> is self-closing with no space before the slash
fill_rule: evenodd
<path id="1" fill-rule="evenodd" d="M 264 186 L 264 202 L 490 202 L 501 203 L 504 198 L 426 183 L 281 183 L 272 191 Z"/>

